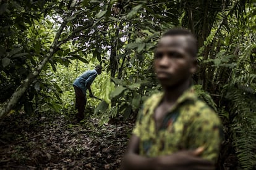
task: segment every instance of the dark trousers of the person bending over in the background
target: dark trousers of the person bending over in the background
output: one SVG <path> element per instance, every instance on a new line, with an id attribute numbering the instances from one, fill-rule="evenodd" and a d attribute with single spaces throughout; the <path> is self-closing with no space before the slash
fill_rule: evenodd
<path id="1" fill-rule="evenodd" d="M 75 89 L 75 109 L 78 110 L 76 117 L 78 119 L 85 118 L 84 111 L 86 105 L 86 96 L 83 94 L 82 89 L 74 86 Z"/>

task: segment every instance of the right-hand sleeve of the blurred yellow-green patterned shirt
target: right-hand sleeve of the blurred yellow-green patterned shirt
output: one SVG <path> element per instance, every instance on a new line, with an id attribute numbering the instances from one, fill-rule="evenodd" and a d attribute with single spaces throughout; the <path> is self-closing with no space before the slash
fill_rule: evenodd
<path id="1" fill-rule="evenodd" d="M 204 147 L 202 158 L 216 161 L 220 152 L 222 126 L 216 113 L 210 108 L 200 110 L 189 132 L 189 147 Z"/>

